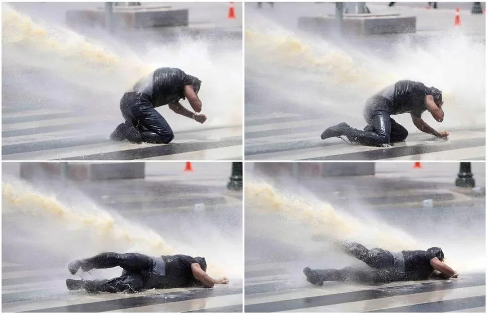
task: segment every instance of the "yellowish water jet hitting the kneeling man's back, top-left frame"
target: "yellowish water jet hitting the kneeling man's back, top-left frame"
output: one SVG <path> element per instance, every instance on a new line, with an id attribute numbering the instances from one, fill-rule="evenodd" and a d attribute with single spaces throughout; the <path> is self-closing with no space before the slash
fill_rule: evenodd
<path id="1" fill-rule="evenodd" d="M 152 70 L 150 64 L 144 64 L 134 55 L 119 56 L 66 28 L 46 29 L 9 5 L 3 5 L 2 9 L 2 41 L 7 64 L 51 69 L 80 86 L 94 89 L 99 85 L 87 81 L 87 76 L 99 83 L 110 78 L 115 80 L 112 87 L 121 85 L 114 90 L 117 92 L 130 88 L 134 77 Z M 107 86 L 110 85 L 101 87 Z"/>

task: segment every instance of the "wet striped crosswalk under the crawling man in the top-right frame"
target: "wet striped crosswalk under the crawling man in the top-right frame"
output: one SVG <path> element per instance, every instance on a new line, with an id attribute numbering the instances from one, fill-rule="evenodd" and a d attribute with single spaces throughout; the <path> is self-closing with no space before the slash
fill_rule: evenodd
<path id="1" fill-rule="evenodd" d="M 247 161 L 484 160 L 485 128 L 454 129 L 448 140 L 425 133 L 410 134 L 393 146 L 348 144 L 339 138 L 320 139 L 337 122 L 331 118 L 279 115 L 246 117 Z"/>

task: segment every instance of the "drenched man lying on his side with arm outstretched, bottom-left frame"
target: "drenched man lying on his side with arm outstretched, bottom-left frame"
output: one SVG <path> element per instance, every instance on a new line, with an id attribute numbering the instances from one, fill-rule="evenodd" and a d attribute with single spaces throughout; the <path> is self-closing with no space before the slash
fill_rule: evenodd
<path id="1" fill-rule="evenodd" d="M 71 274 L 92 269 L 121 267 L 122 275 L 110 280 L 66 279 L 69 290 L 86 289 L 88 292 L 139 292 L 153 288 L 177 288 L 190 286 L 213 287 L 226 284 L 223 277 L 213 279 L 207 275 L 207 263 L 203 257 L 172 255 L 151 257 L 138 253 L 102 253 L 97 256 L 74 260 L 68 264 Z"/>

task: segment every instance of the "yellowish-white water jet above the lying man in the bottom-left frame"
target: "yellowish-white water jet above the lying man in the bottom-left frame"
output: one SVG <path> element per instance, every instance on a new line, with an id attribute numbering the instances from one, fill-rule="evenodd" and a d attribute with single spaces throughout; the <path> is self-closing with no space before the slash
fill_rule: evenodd
<path id="1" fill-rule="evenodd" d="M 234 278 L 240 277 L 233 264 L 221 260 L 218 254 L 214 257 L 215 247 L 207 245 L 207 248 L 201 248 L 195 244 L 170 246 L 154 230 L 105 210 L 87 198 L 66 203 L 12 179 L 2 184 L 2 212 L 4 224 L 15 227 L 25 242 L 44 250 L 43 260 L 52 254 L 69 259 L 101 252 L 137 252 L 152 256 L 186 254 L 205 256 L 207 272 L 211 276 L 229 276 L 230 273 Z M 218 236 L 222 238 L 222 235 Z M 10 237 L 13 236 L 7 235 L 7 239 Z M 226 264 L 229 268 L 222 267 Z"/>

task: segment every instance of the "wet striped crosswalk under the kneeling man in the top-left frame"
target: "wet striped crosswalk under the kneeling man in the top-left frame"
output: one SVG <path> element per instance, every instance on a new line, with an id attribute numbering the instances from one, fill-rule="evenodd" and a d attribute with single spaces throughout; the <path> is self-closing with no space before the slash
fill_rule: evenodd
<path id="1" fill-rule="evenodd" d="M 242 127 L 175 132 L 169 144 L 115 142 L 118 115 L 76 116 L 62 110 L 4 112 L 4 160 L 242 160 Z M 113 127 L 113 128 L 112 128 Z"/>

